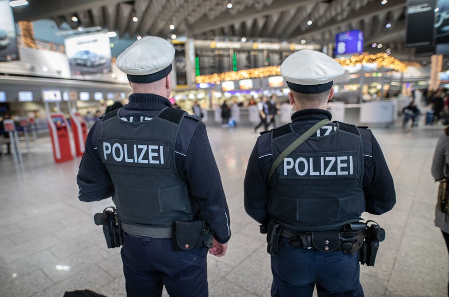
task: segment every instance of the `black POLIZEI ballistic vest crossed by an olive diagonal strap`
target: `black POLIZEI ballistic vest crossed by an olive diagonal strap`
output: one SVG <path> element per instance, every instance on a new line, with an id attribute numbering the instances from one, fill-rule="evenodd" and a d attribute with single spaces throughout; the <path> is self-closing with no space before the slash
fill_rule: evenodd
<path id="1" fill-rule="evenodd" d="M 273 160 L 298 137 L 291 124 L 280 131 L 271 133 Z M 337 122 L 317 135 L 284 158 L 273 173 L 268 212 L 291 230 L 340 229 L 360 220 L 365 211 L 360 132 Z"/>

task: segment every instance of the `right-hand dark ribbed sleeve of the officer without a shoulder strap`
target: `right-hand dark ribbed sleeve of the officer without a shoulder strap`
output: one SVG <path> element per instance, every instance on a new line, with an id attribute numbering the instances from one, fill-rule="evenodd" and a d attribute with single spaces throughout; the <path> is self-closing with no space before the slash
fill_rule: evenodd
<path id="1" fill-rule="evenodd" d="M 183 171 L 189 183 L 189 192 L 196 197 L 201 215 L 208 222 L 214 238 L 219 243 L 227 243 L 231 236 L 229 210 L 203 123 L 196 127 L 190 141 Z"/>

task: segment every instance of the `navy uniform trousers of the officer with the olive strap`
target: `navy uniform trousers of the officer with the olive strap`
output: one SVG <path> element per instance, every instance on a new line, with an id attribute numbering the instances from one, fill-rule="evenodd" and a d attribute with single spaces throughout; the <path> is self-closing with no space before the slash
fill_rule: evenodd
<path id="1" fill-rule="evenodd" d="M 279 252 L 271 256 L 273 297 L 312 296 L 316 284 L 319 297 L 363 297 L 357 254 L 320 252 L 290 245 L 281 237 Z"/>

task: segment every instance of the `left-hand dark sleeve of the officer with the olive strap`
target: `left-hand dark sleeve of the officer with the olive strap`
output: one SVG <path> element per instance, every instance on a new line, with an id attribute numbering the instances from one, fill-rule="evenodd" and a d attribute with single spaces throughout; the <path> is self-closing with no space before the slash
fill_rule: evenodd
<path id="1" fill-rule="evenodd" d="M 266 183 L 266 176 L 267 173 L 259 158 L 258 142 L 256 142 L 253 152 L 249 156 L 243 193 L 246 213 L 260 224 L 265 224 L 270 220 L 267 210 L 270 189 Z"/>

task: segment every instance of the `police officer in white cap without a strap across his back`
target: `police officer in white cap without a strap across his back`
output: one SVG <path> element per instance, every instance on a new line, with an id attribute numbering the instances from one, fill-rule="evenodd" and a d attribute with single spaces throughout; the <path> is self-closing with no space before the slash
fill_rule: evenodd
<path id="1" fill-rule="evenodd" d="M 223 256 L 230 238 L 206 127 L 167 99 L 174 53 L 147 36 L 119 55 L 133 94 L 89 131 L 77 176 L 81 201 L 115 203 L 128 296 L 207 296 L 207 248 Z"/>

